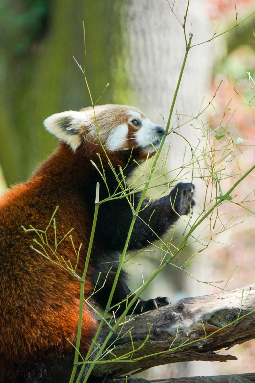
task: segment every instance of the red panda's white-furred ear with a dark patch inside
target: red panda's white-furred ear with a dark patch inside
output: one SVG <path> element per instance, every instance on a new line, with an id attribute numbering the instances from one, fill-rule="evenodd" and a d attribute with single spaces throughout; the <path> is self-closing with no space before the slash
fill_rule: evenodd
<path id="1" fill-rule="evenodd" d="M 89 121 L 85 112 L 65 111 L 53 114 L 43 121 L 45 128 L 75 151 L 82 143 L 82 127 Z"/>

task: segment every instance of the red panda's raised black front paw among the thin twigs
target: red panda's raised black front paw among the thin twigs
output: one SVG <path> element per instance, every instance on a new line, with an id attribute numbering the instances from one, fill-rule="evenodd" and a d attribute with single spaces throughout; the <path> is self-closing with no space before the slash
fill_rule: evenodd
<path id="1" fill-rule="evenodd" d="M 178 183 L 171 191 L 171 203 L 176 213 L 180 215 L 189 214 L 192 207 L 195 206 L 193 196 L 195 185 L 192 183 Z"/>

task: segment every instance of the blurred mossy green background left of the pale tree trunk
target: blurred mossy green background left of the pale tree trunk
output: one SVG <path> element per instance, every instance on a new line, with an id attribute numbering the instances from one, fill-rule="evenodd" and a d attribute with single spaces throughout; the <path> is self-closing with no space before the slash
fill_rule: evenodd
<path id="1" fill-rule="evenodd" d="M 96 100 L 109 82 L 100 103 L 116 102 L 111 67 L 120 44 L 118 13 L 124 5 L 102 0 L 1 1 L 0 164 L 8 184 L 25 180 L 56 146 L 43 128 L 46 117 L 90 105 L 73 59 L 83 65 L 83 20 L 91 92 Z M 121 82 L 123 87 L 124 71 Z M 120 96 L 118 102 L 122 98 L 127 103 L 127 92 Z"/>

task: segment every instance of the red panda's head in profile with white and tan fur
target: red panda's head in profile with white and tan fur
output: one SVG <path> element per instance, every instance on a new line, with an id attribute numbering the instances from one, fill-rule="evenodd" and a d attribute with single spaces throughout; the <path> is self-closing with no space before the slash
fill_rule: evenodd
<path id="1" fill-rule="evenodd" d="M 53 114 L 44 125 L 73 151 L 83 144 L 95 147 L 100 138 L 106 152 L 133 149 L 139 151 L 141 159 L 146 158 L 148 152 L 154 154 L 151 144 L 158 148 L 165 132 L 137 108 L 113 104 L 95 106 L 95 112 L 89 107 L 78 112 Z"/>

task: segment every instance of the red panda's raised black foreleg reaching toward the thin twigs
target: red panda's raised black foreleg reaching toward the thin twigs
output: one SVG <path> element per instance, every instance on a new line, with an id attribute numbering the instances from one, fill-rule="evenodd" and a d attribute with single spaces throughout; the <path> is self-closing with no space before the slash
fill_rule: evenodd
<path id="1" fill-rule="evenodd" d="M 149 203 L 144 200 L 136 219 L 128 250 L 146 247 L 156 241 L 174 225 L 181 215 L 187 215 L 195 205 L 195 186 L 191 183 L 178 183 L 170 195 Z M 132 203 L 136 208 L 140 194 L 134 194 Z M 98 240 L 108 251 L 122 251 L 132 221 L 132 210 L 125 198 L 102 203 L 97 223 Z"/>

